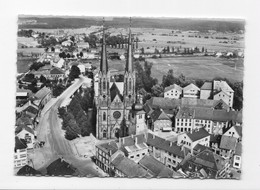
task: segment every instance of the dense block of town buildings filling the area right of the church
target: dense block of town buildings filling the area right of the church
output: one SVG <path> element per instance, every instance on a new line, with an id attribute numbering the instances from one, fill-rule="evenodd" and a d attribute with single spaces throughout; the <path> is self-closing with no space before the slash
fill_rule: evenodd
<path id="1" fill-rule="evenodd" d="M 96 145 L 100 168 L 118 177 L 173 178 L 229 178 L 241 170 L 242 111 L 232 110 L 225 81 L 200 89 L 175 84 L 164 95 L 143 106 L 147 130 Z"/>

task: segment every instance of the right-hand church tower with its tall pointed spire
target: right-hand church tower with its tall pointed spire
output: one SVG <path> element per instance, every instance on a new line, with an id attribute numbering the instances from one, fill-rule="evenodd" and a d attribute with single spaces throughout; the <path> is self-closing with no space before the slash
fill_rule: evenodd
<path id="1" fill-rule="evenodd" d="M 132 105 L 135 103 L 135 71 L 133 66 L 133 44 L 132 44 L 132 34 L 131 34 L 131 18 L 129 27 L 129 37 L 128 37 L 128 49 L 126 58 L 126 67 L 124 75 L 124 106 L 126 109 L 131 109 Z"/>

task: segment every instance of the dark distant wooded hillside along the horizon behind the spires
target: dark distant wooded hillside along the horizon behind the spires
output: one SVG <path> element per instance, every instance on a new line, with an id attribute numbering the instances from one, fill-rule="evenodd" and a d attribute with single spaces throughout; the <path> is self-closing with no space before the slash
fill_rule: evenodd
<path id="1" fill-rule="evenodd" d="M 35 20 L 36 23 L 28 24 L 24 21 Z M 20 29 L 24 28 L 84 28 L 91 25 L 102 25 L 101 17 L 21 17 L 19 22 Z M 106 21 L 107 26 L 128 27 L 129 18 L 114 17 Z M 185 19 L 185 18 L 133 18 L 132 26 L 138 28 L 168 28 L 179 30 L 198 30 L 206 32 L 216 30 L 218 32 L 238 32 L 244 30 L 245 22 L 243 20 L 207 20 L 207 19 Z"/>

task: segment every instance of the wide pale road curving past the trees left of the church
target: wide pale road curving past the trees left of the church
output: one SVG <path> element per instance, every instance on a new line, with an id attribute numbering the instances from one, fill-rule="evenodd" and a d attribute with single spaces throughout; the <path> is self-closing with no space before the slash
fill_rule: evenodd
<path id="1" fill-rule="evenodd" d="M 64 133 L 61 129 L 61 120 L 58 117 L 59 106 L 69 98 L 74 92 L 86 81 L 86 78 L 80 77 L 68 89 L 66 89 L 55 100 L 46 104 L 41 112 L 39 125 L 37 127 L 37 134 L 39 141 L 45 141 L 45 147 L 38 149 L 39 154 L 43 154 L 44 160 L 39 168 L 44 170 L 52 161 L 63 157 L 64 160 L 77 168 L 81 176 L 104 176 L 104 173 L 98 171 L 97 166 L 90 158 L 79 158 L 71 148 L 68 140 L 65 139 Z M 91 79 L 87 79 L 91 82 Z M 37 151 L 35 155 L 37 159 Z"/>

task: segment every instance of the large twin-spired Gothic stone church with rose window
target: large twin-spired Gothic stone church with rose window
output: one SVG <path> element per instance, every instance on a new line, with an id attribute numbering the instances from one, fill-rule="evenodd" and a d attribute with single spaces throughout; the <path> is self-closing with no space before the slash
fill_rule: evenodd
<path id="1" fill-rule="evenodd" d="M 105 31 L 101 48 L 100 70 L 94 82 L 96 115 L 96 138 L 116 139 L 135 135 L 146 130 L 142 101 L 136 94 L 136 75 L 133 66 L 131 29 L 123 79 L 108 68 Z"/>

